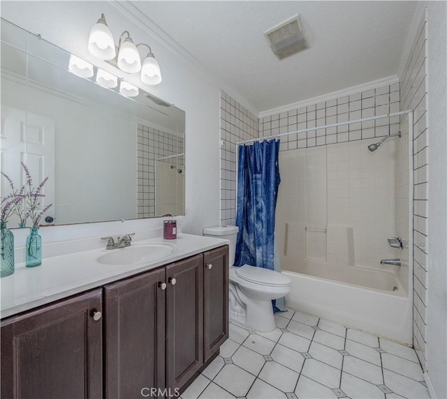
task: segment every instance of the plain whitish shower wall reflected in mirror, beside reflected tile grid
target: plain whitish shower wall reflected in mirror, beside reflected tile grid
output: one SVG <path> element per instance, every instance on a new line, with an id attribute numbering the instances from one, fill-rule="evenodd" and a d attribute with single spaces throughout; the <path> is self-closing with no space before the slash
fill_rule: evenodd
<path id="1" fill-rule="evenodd" d="M 184 213 L 184 166 L 165 160 L 155 163 L 155 216 Z"/>

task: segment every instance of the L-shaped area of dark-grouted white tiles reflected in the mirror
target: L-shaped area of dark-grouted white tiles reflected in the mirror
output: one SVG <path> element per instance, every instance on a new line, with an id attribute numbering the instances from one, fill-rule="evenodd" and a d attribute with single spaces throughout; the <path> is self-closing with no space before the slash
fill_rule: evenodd
<path id="1" fill-rule="evenodd" d="M 155 161 L 184 165 L 184 138 L 144 126 L 137 129 L 138 218 L 155 216 Z M 170 158 L 166 158 L 170 157 Z"/>

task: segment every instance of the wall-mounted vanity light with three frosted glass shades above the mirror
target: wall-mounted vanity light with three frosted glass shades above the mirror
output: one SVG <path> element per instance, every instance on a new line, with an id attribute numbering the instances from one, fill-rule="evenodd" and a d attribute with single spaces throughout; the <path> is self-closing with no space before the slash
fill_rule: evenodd
<path id="1" fill-rule="evenodd" d="M 139 46 L 149 49 L 144 61 L 141 63 Z M 124 73 L 140 73 L 141 82 L 145 84 L 159 84 L 161 70 L 151 47 L 145 43 L 133 44 L 129 31 L 123 31 L 119 36 L 118 47 L 115 47 L 112 32 L 105 22 L 104 14 L 91 28 L 89 36 L 89 52 L 99 59 L 110 61 Z"/>

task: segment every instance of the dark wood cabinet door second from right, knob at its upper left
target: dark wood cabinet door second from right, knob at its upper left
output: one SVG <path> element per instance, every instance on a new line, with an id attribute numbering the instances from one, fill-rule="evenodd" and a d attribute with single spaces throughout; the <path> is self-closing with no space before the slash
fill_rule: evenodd
<path id="1" fill-rule="evenodd" d="M 166 283 L 166 376 L 172 390 L 203 365 L 203 255 L 166 266 Z"/>

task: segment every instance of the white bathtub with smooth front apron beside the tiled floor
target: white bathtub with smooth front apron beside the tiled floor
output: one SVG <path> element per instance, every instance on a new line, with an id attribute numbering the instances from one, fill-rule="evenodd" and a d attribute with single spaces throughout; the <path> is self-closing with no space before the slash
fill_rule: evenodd
<path id="1" fill-rule="evenodd" d="M 292 280 L 286 306 L 411 344 L 413 309 L 408 287 L 391 273 L 312 261 L 300 271 L 282 271 Z"/>

